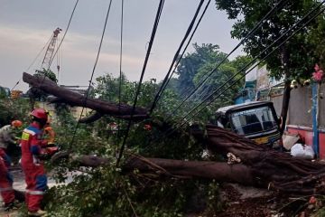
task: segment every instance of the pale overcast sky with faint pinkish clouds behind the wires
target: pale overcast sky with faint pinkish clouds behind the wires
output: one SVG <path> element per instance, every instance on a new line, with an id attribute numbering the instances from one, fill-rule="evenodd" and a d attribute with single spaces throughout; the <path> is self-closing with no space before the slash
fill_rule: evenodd
<path id="1" fill-rule="evenodd" d="M 63 36 L 74 4 L 72 0 L 0 0 L 1 86 L 14 87 L 56 27 Z M 88 85 L 108 4 L 108 0 L 79 0 L 60 49 L 60 84 Z M 198 4 L 198 0 L 165 1 L 144 80 L 163 80 Z M 140 78 L 158 5 L 158 0 L 125 0 L 122 71 L 129 80 Z M 119 74 L 120 14 L 121 0 L 113 0 L 94 78 Z M 191 42 L 218 44 L 222 52 L 230 52 L 238 42 L 230 37 L 232 24 L 212 0 Z M 43 56 L 44 52 L 27 72 L 40 69 Z M 57 72 L 56 61 L 51 70 Z M 28 85 L 22 80 L 15 89 L 27 90 Z"/>

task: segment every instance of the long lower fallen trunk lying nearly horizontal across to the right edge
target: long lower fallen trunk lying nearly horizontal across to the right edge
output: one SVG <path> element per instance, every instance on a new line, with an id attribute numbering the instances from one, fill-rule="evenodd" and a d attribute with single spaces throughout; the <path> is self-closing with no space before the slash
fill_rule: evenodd
<path id="1" fill-rule="evenodd" d="M 283 153 L 278 154 L 283 155 Z M 276 159 L 277 155 L 274 157 L 275 161 L 266 160 L 259 164 L 245 163 L 245 160 L 240 164 L 228 164 L 226 162 L 183 161 L 131 156 L 125 161 L 122 168 L 124 172 L 137 169 L 144 174 L 149 172 L 155 175 L 176 176 L 178 178 L 214 179 L 218 182 L 263 187 L 289 194 L 325 193 L 323 165 L 311 162 L 298 164 L 309 165 L 310 169 L 305 168 L 305 172 L 308 174 L 305 174 L 297 167 L 298 165 L 295 165 L 299 160 L 288 157 L 285 160 L 289 162 L 285 162 L 283 158 Z M 81 156 L 74 158 L 74 160 L 84 166 L 115 166 L 111 165 L 107 158 L 100 156 Z"/>

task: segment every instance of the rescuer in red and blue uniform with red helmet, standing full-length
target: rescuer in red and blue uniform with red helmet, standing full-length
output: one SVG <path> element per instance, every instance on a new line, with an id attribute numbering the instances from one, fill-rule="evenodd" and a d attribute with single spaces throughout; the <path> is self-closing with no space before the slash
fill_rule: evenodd
<path id="1" fill-rule="evenodd" d="M 42 129 L 46 125 L 48 115 L 44 109 L 34 109 L 31 115 L 32 123 L 23 129 L 21 140 L 21 162 L 27 184 L 25 199 L 29 216 L 44 216 L 46 212 L 42 211 L 41 202 L 47 189 L 47 177 L 40 158 L 42 158 Z"/>

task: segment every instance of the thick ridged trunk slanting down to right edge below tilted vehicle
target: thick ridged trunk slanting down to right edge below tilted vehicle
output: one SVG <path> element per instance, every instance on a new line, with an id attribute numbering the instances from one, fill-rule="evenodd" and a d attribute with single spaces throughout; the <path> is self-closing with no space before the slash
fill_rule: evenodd
<path id="1" fill-rule="evenodd" d="M 203 139 L 203 132 L 194 132 Z M 286 193 L 324 193 L 325 166 L 306 159 L 294 158 L 226 129 L 207 126 L 208 148 L 212 153 L 232 153 L 241 164 L 252 170 L 255 182 Z"/>

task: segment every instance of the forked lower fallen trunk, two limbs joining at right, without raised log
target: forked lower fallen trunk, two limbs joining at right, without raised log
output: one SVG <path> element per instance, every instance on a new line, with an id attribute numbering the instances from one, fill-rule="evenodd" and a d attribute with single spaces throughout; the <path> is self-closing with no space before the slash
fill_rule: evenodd
<path id="1" fill-rule="evenodd" d="M 137 169 L 141 173 L 158 176 L 215 179 L 218 182 L 263 187 L 289 194 L 325 193 L 324 165 L 293 158 L 289 154 L 257 145 L 246 137 L 212 125 L 207 126 L 207 137 L 199 130 L 192 134 L 202 142 L 203 139 L 206 140 L 211 153 L 223 156 L 231 153 L 240 159 L 240 163 L 230 161 L 229 158 L 228 162 L 213 162 L 130 156 L 122 166 L 123 171 Z M 82 156 L 74 160 L 80 165 L 91 167 L 115 166 L 100 156 Z"/>

